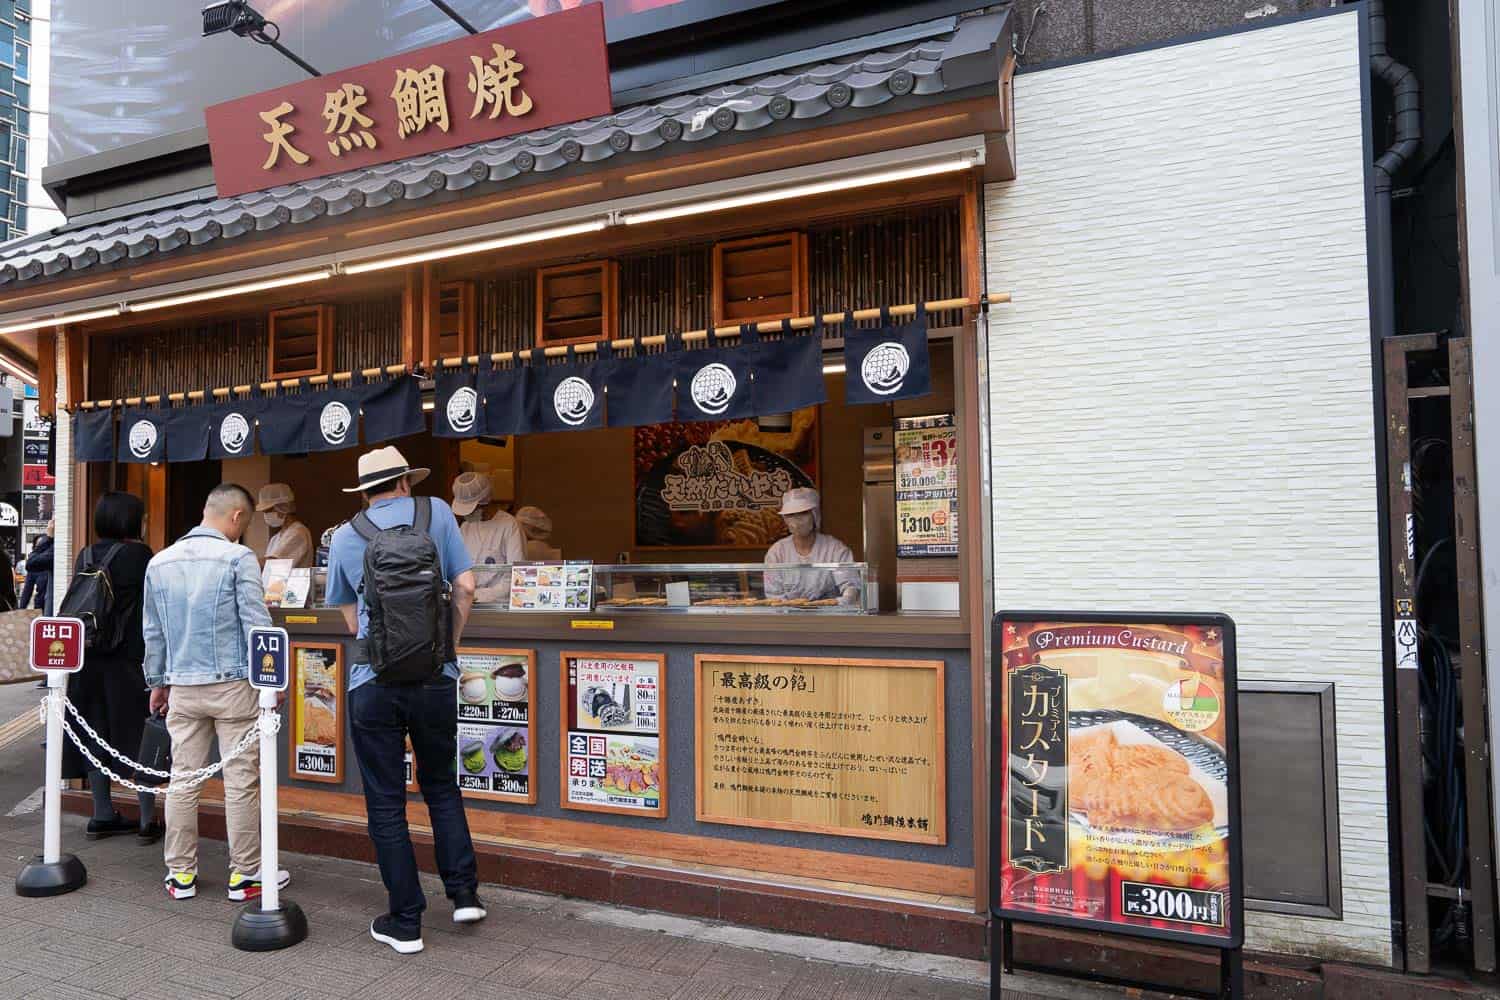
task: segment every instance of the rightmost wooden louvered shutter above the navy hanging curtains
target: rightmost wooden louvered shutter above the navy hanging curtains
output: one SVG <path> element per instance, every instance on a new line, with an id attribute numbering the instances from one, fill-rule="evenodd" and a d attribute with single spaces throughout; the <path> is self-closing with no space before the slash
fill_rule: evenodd
<path id="1" fill-rule="evenodd" d="M 807 312 L 807 250 L 800 232 L 714 244 L 714 325 Z"/>

